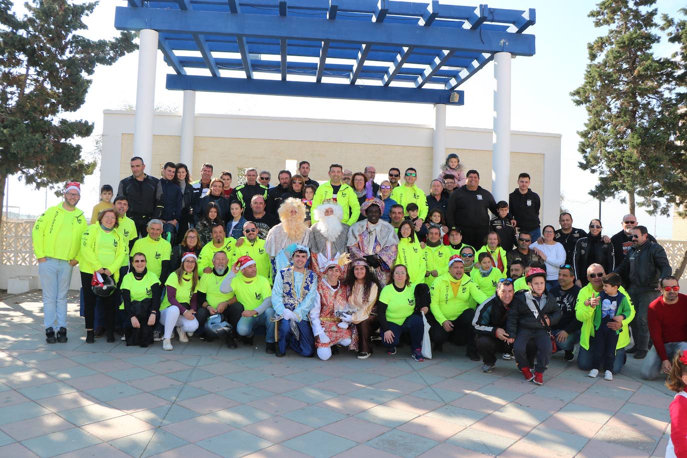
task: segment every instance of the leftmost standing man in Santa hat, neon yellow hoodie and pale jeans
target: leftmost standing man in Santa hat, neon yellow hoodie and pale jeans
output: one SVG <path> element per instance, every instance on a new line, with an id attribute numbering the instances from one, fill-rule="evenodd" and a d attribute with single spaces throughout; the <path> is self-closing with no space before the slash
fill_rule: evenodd
<path id="1" fill-rule="evenodd" d="M 45 210 L 31 233 L 43 289 L 43 324 L 47 343 L 67 342 L 67 293 L 71 272 L 77 264 L 81 236 L 88 227 L 84 212 L 76 208 L 81 198 L 80 187 L 79 183 L 68 183 L 65 201 Z"/>

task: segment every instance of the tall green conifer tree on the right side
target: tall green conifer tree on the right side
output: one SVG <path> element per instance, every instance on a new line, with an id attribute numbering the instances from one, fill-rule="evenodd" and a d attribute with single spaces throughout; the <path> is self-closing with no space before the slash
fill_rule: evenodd
<path id="1" fill-rule="evenodd" d="M 660 42 L 655 0 L 602 0 L 589 13 L 607 28 L 587 45 L 589 64 L 581 87 L 571 93 L 587 110 L 578 132 L 580 168 L 598 176 L 590 195 L 621 195 L 651 214 L 668 214 L 687 196 L 687 161 L 676 142 L 677 63 L 653 54 Z M 624 194 L 627 193 L 627 197 Z"/>

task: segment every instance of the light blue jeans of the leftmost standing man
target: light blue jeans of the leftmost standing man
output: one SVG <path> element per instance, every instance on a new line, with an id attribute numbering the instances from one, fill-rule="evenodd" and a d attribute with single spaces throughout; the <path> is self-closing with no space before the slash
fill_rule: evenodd
<path id="1" fill-rule="evenodd" d="M 48 257 L 38 264 L 38 276 L 43 289 L 43 324 L 52 328 L 67 328 L 67 293 L 72 267 L 68 261 Z"/>

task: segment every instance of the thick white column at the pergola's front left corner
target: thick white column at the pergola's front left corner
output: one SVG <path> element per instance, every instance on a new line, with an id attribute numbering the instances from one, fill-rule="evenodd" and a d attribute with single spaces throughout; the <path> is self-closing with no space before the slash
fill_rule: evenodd
<path id="1" fill-rule="evenodd" d="M 155 111 L 155 67 L 157 65 L 157 31 L 141 30 L 138 48 L 138 81 L 136 116 L 133 130 L 133 154 L 143 158 L 146 172 L 153 170 L 153 112 Z"/>

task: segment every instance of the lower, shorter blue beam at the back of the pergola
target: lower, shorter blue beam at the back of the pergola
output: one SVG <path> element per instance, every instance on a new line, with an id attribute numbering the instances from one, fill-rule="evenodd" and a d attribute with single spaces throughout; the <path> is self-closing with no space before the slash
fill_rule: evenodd
<path id="1" fill-rule="evenodd" d="M 300 81 L 247 80 L 245 78 L 213 78 L 212 76 L 168 75 L 167 89 L 177 91 L 205 91 L 260 95 L 289 95 L 350 100 L 379 100 L 381 102 L 407 102 L 423 104 L 464 103 L 463 91 L 445 89 L 414 89 L 408 87 L 357 86 Z M 451 94 L 458 102 L 451 102 Z M 455 96 L 454 96 L 455 98 Z"/>

